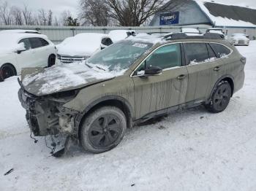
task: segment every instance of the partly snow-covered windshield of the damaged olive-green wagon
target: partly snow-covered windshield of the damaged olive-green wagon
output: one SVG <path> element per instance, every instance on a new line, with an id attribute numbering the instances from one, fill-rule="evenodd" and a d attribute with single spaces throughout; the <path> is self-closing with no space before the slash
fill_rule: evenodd
<path id="1" fill-rule="evenodd" d="M 153 46 L 147 42 L 125 40 L 117 42 L 93 55 L 87 63 L 89 65 L 104 66 L 108 70 L 128 69 L 143 53 Z M 97 67 L 97 66 L 96 66 Z"/>

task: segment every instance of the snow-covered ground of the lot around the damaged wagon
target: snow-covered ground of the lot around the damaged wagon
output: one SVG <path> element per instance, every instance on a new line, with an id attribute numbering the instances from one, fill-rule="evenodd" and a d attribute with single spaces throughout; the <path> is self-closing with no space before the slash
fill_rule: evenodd
<path id="1" fill-rule="evenodd" d="M 0 190 L 256 190 L 256 42 L 238 49 L 246 81 L 225 112 L 173 112 L 100 155 L 51 157 L 29 138 L 16 77 L 0 83 Z"/>

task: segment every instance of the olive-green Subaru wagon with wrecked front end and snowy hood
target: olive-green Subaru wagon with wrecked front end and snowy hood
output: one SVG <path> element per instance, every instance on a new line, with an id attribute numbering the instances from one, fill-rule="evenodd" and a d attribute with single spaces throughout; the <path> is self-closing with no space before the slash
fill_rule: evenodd
<path id="1" fill-rule="evenodd" d="M 218 34 L 139 34 L 81 63 L 23 69 L 18 96 L 34 136 L 61 137 L 59 152 L 75 141 L 101 153 L 127 128 L 173 110 L 224 111 L 244 85 L 245 64 Z"/>

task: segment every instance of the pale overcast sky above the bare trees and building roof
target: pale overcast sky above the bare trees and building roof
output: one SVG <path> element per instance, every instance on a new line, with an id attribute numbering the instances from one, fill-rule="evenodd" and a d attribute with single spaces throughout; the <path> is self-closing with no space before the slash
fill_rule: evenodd
<path id="1" fill-rule="evenodd" d="M 217 0 L 216 2 L 256 7 L 256 0 Z M 79 0 L 8 0 L 8 3 L 10 6 L 15 5 L 18 7 L 23 7 L 23 4 L 26 4 L 33 11 L 42 8 L 51 9 L 56 16 L 59 16 L 64 10 L 69 10 L 73 17 L 77 17 L 79 12 Z"/>

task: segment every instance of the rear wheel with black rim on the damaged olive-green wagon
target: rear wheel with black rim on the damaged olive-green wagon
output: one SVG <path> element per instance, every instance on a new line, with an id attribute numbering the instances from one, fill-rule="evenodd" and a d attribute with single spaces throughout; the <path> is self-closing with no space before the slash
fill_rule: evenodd
<path id="1" fill-rule="evenodd" d="M 206 105 L 206 109 L 212 113 L 223 112 L 229 102 L 232 95 L 232 90 L 229 82 L 219 82 L 219 85 L 215 87 L 214 93 L 211 96 L 210 104 Z"/>

